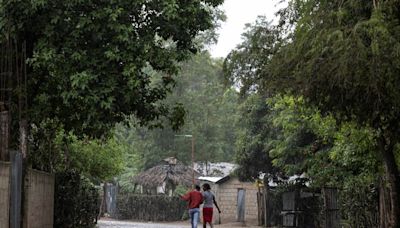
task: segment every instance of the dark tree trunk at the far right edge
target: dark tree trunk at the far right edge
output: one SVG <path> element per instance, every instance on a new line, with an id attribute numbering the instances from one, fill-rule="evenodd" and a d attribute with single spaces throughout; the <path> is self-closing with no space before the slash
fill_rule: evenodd
<path id="1" fill-rule="evenodd" d="M 381 140 L 380 146 L 383 153 L 386 179 L 389 184 L 390 222 L 388 228 L 400 228 L 400 178 L 399 170 L 394 156 L 394 144 Z M 388 145 L 390 144 L 390 145 Z M 381 215 L 384 216 L 384 215 Z"/>

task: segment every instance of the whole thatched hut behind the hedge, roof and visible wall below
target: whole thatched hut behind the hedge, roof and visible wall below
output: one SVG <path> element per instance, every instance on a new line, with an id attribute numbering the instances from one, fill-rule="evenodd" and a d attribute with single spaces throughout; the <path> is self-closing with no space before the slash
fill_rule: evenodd
<path id="1" fill-rule="evenodd" d="M 200 174 L 176 158 L 166 158 L 158 165 L 139 173 L 133 178 L 136 188 L 143 194 L 167 194 L 172 196 L 178 185 L 192 187 Z M 198 184 L 198 181 L 196 181 Z"/>

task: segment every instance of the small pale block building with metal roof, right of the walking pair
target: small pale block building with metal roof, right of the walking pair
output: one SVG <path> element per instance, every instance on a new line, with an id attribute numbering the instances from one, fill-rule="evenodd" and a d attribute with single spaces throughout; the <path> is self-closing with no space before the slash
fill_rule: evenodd
<path id="1" fill-rule="evenodd" d="M 257 225 L 258 188 L 253 182 L 242 182 L 238 177 L 199 177 L 201 184 L 209 183 L 222 211 L 214 216 L 214 223 L 241 222 Z M 220 221 L 219 221 L 220 220 Z"/>

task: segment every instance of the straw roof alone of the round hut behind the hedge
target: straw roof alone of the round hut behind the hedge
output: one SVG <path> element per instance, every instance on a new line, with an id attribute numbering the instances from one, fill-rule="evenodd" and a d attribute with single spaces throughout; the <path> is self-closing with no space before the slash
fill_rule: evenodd
<path id="1" fill-rule="evenodd" d="M 133 178 L 133 183 L 145 188 L 162 186 L 164 182 L 171 183 L 175 186 L 184 185 L 190 187 L 193 181 L 192 172 L 193 169 L 191 167 L 185 166 L 176 158 L 166 158 L 158 165 L 135 176 Z M 195 179 L 199 176 L 200 174 L 195 171 Z"/>

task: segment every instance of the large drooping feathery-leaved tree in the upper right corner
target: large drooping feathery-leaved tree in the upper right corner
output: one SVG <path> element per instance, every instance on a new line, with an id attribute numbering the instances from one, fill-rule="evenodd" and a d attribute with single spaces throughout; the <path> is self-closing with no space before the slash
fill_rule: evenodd
<path id="1" fill-rule="evenodd" d="M 390 186 L 390 227 L 400 226 L 400 167 L 395 160 L 400 140 L 398 4 L 302 3 L 293 40 L 269 68 L 274 86 L 304 95 L 339 121 L 354 120 L 377 133 L 376 150 Z"/>

